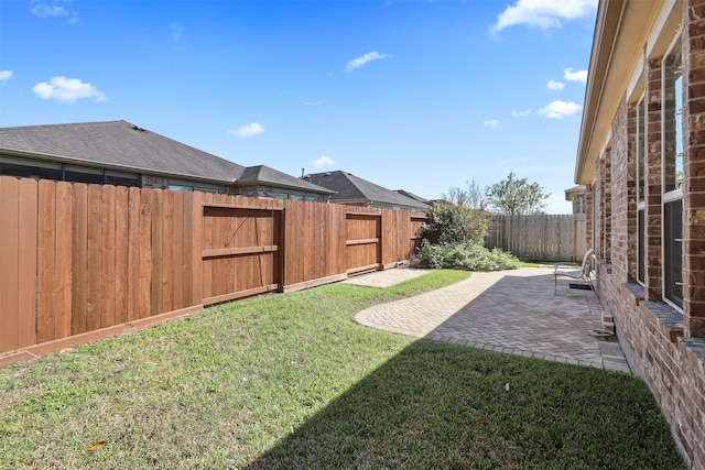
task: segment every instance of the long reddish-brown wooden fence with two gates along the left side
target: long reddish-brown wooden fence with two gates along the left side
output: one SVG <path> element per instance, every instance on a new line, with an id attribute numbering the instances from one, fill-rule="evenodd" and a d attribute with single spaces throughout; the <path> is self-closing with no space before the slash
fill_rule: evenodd
<path id="1" fill-rule="evenodd" d="M 408 260 L 425 216 L 0 177 L 0 353 Z M 1 362 L 1 361 L 0 361 Z"/>

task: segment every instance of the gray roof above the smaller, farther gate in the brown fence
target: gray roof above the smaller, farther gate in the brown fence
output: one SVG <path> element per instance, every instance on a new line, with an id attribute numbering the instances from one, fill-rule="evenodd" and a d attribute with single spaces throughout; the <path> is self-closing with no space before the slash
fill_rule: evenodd
<path id="1" fill-rule="evenodd" d="M 337 194 L 332 196 L 330 200 L 338 203 L 382 204 L 419 210 L 430 207 L 427 204 L 420 203 L 347 172 L 313 173 L 304 176 L 304 179 L 336 192 Z"/>

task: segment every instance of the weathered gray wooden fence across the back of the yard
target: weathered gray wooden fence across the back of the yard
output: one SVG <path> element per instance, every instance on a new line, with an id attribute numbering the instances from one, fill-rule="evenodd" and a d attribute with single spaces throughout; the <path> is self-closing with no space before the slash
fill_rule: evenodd
<path id="1" fill-rule="evenodd" d="M 587 251 L 585 215 L 492 216 L 486 247 L 522 260 L 579 261 Z"/>

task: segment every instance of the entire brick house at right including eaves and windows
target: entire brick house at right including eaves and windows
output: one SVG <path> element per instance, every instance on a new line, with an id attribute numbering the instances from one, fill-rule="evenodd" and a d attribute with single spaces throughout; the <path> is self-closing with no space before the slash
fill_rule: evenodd
<path id="1" fill-rule="evenodd" d="M 705 0 L 600 0 L 575 183 L 619 341 L 705 469 Z"/>

